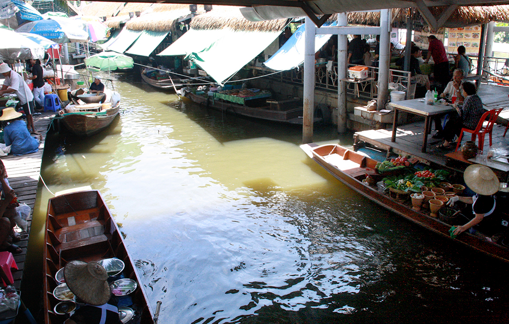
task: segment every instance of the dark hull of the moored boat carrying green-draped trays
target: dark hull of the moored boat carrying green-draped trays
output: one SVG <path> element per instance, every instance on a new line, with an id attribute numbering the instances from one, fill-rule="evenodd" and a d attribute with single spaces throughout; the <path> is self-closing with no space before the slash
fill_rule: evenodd
<path id="1" fill-rule="evenodd" d="M 302 107 L 298 107 L 299 106 L 298 104 L 296 104 L 295 108 L 291 108 L 288 110 L 274 110 L 269 109 L 268 106 L 249 107 L 246 105 L 224 102 L 221 100 L 213 100 L 212 97 L 210 96 L 196 95 L 193 94 L 192 92 L 185 93 L 185 97 L 207 108 L 213 108 L 219 111 L 233 113 L 250 118 L 295 125 L 302 125 L 303 121 L 302 119 L 303 109 Z M 321 118 L 315 118 L 314 120 L 315 123 L 321 121 L 322 121 Z"/>

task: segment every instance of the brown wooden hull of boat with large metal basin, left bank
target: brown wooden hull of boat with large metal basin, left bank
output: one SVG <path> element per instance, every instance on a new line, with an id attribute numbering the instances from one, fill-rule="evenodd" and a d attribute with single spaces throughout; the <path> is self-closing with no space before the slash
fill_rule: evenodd
<path id="1" fill-rule="evenodd" d="M 108 127 L 119 114 L 120 103 L 116 107 L 101 111 L 76 111 L 64 113 L 61 119 L 65 127 L 78 136 L 92 136 Z"/>

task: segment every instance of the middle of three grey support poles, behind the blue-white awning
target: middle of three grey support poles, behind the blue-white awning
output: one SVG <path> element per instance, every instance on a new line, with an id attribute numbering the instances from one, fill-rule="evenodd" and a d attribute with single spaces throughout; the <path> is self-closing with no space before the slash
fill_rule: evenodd
<path id="1" fill-rule="evenodd" d="M 337 25 L 348 26 L 348 14 L 337 14 Z M 348 39 L 346 35 L 337 35 L 337 79 L 347 77 L 347 47 Z M 345 133 L 347 131 L 347 83 L 340 81 L 337 87 L 337 132 Z"/>

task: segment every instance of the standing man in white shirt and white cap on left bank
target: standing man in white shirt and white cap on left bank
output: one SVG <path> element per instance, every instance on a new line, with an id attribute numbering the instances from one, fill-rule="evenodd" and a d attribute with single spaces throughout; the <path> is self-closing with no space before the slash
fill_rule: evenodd
<path id="1" fill-rule="evenodd" d="M 5 77 L 4 85 L 2 85 L 2 90 L 0 90 L 0 97 L 4 94 L 15 93 L 26 115 L 26 128 L 29 132 L 39 134 L 35 129 L 34 120 L 32 119 L 32 114 L 34 113 L 34 95 L 28 84 L 26 84 L 23 77 L 16 71 L 13 71 L 7 63 L 0 64 L 0 73 Z"/>

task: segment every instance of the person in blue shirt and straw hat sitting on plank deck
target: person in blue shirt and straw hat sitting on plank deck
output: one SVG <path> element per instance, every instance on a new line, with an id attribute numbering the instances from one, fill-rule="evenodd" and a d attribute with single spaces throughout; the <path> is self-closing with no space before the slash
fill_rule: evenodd
<path id="1" fill-rule="evenodd" d="M 0 116 L 0 121 L 9 121 L 8 125 L 4 127 L 4 141 L 7 146 L 11 145 L 11 153 L 14 155 L 37 152 L 42 140 L 42 135 L 30 136 L 25 122 L 19 119 L 21 115 L 13 107 L 10 107 L 4 109 Z"/>

